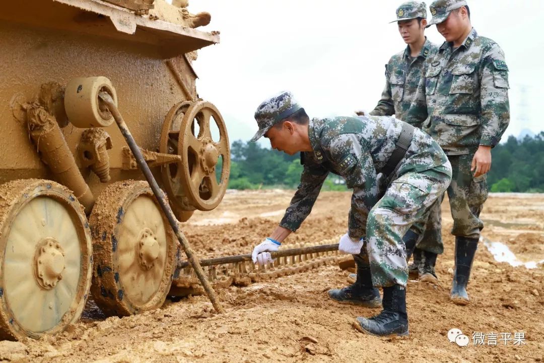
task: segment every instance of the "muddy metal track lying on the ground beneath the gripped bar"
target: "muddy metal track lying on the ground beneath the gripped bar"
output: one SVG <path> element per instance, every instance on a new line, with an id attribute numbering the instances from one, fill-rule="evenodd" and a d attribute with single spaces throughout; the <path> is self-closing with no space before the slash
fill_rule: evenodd
<path id="1" fill-rule="evenodd" d="M 282 249 L 305 248 L 338 242 L 338 237 L 324 239 L 319 243 L 282 244 Z M 217 264 L 203 267 L 214 288 L 228 286 L 248 286 L 254 282 L 269 281 L 282 276 L 306 272 L 319 266 L 338 264 L 349 255 L 339 251 L 308 253 L 303 255 L 278 257 L 267 266 L 257 266 L 252 261 Z M 171 296 L 200 295 L 204 290 L 191 267 L 176 269 L 170 289 Z"/>

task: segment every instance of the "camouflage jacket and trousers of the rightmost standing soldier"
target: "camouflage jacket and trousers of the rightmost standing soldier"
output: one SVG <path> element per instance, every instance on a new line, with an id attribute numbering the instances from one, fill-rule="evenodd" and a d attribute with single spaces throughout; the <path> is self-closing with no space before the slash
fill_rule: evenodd
<path id="1" fill-rule="evenodd" d="M 441 2 L 454 0 L 435 3 Z M 487 199 L 486 175 L 474 178 L 471 162 L 479 145 L 497 145 L 506 130 L 508 88 L 503 51 L 475 29 L 456 50 L 444 42 L 425 71 L 421 92 L 429 116 L 423 131 L 440 144 L 452 163 L 448 197 L 455 236 L 479 238 L 483 229 L 479 215 Z"/>

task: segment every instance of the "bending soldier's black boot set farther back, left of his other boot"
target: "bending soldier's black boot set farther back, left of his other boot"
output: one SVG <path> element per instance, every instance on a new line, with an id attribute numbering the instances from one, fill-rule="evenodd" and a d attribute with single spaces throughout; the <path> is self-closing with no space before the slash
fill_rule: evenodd
<path id="1" fill-rule="evenodd" d="M 357 257 L 357 256 L 355 256 Z M 339 303 L 361 305 L 364 307 L 381 306 L 380 291 L 372 285 L 370 267 L 361 266 L 357 262 L 357 279 L 355 282 L 341 290 L 329 290 L 329 297 Z"/>

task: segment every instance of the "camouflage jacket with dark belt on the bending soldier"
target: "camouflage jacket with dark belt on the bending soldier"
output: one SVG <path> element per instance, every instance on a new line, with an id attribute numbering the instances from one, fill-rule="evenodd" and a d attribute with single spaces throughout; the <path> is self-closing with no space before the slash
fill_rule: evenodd
<path id="1" fill-rule="evenodd" d="M 361 116 L 313 119 L 308 124 L 312 152 L 302 152 L 300 184 L 280 226 L 296 231 L 312 211 L 329 172 L 342 176 L 353 188 L 349 235 L 363 237 L 368 211 L 380 195 L 376 176 L 395 149 L 403 122 L 393 117 Z M 415 129 L 412 143 L 392 180 L 409 172 L 428 170 L 448 161 L 440 146 Z"/>

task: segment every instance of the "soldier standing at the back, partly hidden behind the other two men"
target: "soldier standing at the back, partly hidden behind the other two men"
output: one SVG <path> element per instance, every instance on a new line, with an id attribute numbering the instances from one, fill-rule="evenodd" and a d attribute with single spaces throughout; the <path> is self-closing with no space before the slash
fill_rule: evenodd
<path id="1" fill-rule="evenodd" d="M 399 33 L 406 48 L 394 54 L 385 65 L 385 88 L 378 105 L 370 112 L 375 116 L 391 116 L 421 128 L 427 118 L 425 96 L 418 93 L 418 85 L 428 59 L 438 53 L 438 47 L 425 36 L 427 9 L 424 2 L 408 1 L 400 4 L 395 14 Z M 359 113 L 358 113 L 359 114 Z M 416 223 L 404 236 L 406 258 L 413 253 L 410 274 L 419 280 L 437 282 L 436 256 L 443 253 L 440 214 L 433 213 L 429 220 Z M 416 249 L 416 243 L 418 248 Z M 357 260 L 356 260 L 357 262 Z M 350 275 L 353 279 L 353 275 Z M 342 300 L 342 296 L 338 296 Z"/>

